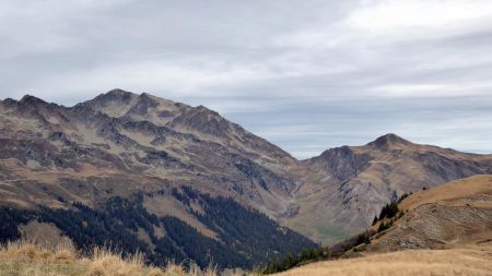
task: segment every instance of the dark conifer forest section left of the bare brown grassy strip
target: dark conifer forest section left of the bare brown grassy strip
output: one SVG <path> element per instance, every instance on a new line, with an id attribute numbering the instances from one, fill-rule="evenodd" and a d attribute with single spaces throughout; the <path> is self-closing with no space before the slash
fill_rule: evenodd
<path id="1" fill-rule="evenodd" d="M 2 207 L 0 218 L 2 242 L 21 238 L 19 226 L 36 219 L 54 224 L 85 253 L 98 245 L 122 252 L 124 255 L 143 253 L 148 263 L 153 265 L 163 265 L 169 260 L 180 263 L 188 259 L 201 267 L 212 261 L 222 267 L 253 265 L 235 250 L 202 236 L 178 218 L 157 218 L 149 214 L 140 200 L 113 197 L 101 209 L 93 209 L 81 203 L 73 203 L 68 209 L 39 207 L 37 211 L 23 211 Z M 167 235 L 157 238 L 154 227 L 163 227 Z M 149 235 L 153 250 L 151 244 L 138 238 L 139 229 Z"/>

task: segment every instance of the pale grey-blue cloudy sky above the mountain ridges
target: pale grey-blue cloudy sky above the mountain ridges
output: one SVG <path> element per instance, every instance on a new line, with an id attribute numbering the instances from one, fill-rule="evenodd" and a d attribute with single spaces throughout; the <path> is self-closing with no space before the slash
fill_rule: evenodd
<path id="1" fill-rule="evenodd" d="M 0 98 L 115 87 L 298 158 L 388 132 L 492 153 L 492 1 L 0 0 Z"/>

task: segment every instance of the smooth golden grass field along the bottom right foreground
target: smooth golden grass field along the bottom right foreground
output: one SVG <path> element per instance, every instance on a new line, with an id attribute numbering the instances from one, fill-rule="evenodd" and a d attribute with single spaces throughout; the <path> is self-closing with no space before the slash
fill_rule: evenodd
<path id="1" fill-rule="evenodd" d="M 490 276 L 492 245 L 450 250 L 414 250 L 326 261 L 297 267 L 278 276 Z"/>

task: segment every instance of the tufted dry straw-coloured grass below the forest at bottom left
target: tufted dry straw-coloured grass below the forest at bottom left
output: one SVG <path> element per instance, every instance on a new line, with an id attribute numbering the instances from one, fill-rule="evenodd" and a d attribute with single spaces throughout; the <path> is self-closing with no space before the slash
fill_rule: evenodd
<path id="1" fill-rule="evenodd" d="M 200 269 L 196 264 L 168 263 L 166 267 L 151 267 L 140 254 L 121 254 L 96 248 L 83 257 L 73 244 L 63 240 L 56 248 L 35 245 L 34 242 L 9 242 L 0 249 L 2 276 L 216 276 L 216 267 Z M 237 275 L 229 273 L 227 275 Z"/>

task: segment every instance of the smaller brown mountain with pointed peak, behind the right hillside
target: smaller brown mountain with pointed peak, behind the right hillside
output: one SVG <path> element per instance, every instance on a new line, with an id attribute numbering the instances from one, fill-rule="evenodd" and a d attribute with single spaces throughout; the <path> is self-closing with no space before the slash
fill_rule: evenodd
<path id="1" fill-rule="evenodd" d="M 387 134 L 363 146 L 342 146 L 302 161 L 293 214 L 284 224 L 331 242 L 371 225 L 388 202 L 478 173 L 492 172 L 492 156 L 419 145 Z"/>

